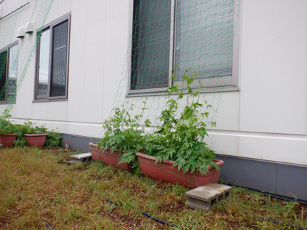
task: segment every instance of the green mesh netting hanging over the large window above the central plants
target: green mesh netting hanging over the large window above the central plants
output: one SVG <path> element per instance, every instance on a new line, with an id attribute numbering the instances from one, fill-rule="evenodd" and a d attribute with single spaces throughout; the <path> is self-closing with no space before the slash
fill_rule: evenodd
<path id="1" fill-rule="evenodd" d="M 205 122 L 207 128 L 214 125 L 223 89 L 233 86 L 239 8 L 240 1 L 233 0 L 135 1 L 131 47 L 113 108 L 124 107 L 131 117 L 143 114 L 141 127 L 149 119 L 151 127 L 146 132 L 153 133 L 165 125 L 159 117 L 169 100 L 177 100 L 176 119 L 187 103 L 197 102 L 201 104 L 198 123 Z M 193 83 L 187 84 L 191 78 Z M 182 98 L 178 93 L 168 96 L 167 89 L 173 85 L 179 85 Z M 200 93 L 193 97 L 189 90 Z M 178 137 L 186 138 L 183 133 Z"/>

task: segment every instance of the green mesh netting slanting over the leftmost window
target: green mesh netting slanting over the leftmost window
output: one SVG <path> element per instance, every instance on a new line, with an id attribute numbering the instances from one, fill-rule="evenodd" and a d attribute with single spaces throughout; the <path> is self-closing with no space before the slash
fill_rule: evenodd
<path id="1" fill-rule="evenodd" d="M 26 34 L 19 43 L 12 44 L 13 41 L 16 41 L 16 38 L 14 38 L 14 32 L 17 29 L 16 21 L 19 18 L 19 11 L 22 10 L 23 6 L 0 20 L 1 113 L 6 109 L 11 110 L 12 105 L 16 103 L 16 95 L 24 82 L 39 41 L 39 36 L 37 35 L 41 31 L 38 33 L 36 31 L 44 26 L 52 3 L 53 0 L 35 1 L 29 26 L 26 28 L 26 30 L 34 32 Z M 4 1 L 1 4 L 9 4 L 9 2 Z"/>

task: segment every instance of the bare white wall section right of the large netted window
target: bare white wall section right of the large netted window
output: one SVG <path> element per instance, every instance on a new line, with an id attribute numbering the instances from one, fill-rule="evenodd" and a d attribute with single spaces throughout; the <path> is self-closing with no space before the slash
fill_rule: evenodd
<path id="1" fill-rule="evenodd" d="M 216 152 L 307 164 L 306 12 L 303 0 L 242 1 L 241 90 L 223 93 Z"/>

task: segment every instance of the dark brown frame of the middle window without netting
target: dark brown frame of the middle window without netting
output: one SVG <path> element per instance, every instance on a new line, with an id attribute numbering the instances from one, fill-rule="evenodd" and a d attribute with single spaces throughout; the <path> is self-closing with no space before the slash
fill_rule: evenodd
<path id="1" fill-rule="evenodd" d="M 65 95 L 61 96 L 51 96 L 51 74 L 53 66 L 53 54 L 54 54 L 54 27 L 59 26 L 65 21 L 68 22 L 67 26 L 67 53 L 66 53 L 66 79 L 65 79 Z M 40 61 L 40 48 L 41 48 L 41 39 L 39 39 L 36 47 L 36 73 L 35 73 L 35 85 L 34 85 L 34 102 L 43 102 L 43 101 L 59 101 L 68 99 L 68 89 L 69 89 L 69 50 L 70 50 L 70 35 L 71 35 L 71 13 L 61 16 L 59 19 L 52 21 L 51 23 L 46 24 L 42 29 L 36 31 L 37 36 L 41 36 L 41 33 L 44 31 L 50 30 L 50 43 L 49 43 L 49 73 L 48 73 L 48 83 L 47 83 L 47 94 L 46 95 L 37 95 L 39 87 L 39 61 Z"/>

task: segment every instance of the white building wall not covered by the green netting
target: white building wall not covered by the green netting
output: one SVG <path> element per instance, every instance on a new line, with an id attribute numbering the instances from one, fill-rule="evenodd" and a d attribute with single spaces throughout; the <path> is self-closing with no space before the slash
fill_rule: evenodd
<path id="1" fill-rule="evenodd" d="M 12 1 L 15 8 L 25 4 Z M 14 10 L 7 2 L 0 5 L 2 16 Z M 29 21 L 30 3 L 16 28 Z M 126 64 L 129 9 L 128 0 L 54 0 L 46 23 L 71 12 L 69 99 L 32 102 L 34 56 L 11 111 L 14 120 L 98 137 Z M 218 154 L 307 165 L 306 12 L 305 0 L 241 1 L 240 91 L 222 94 L 217 125 L 205 140 Z"/>

